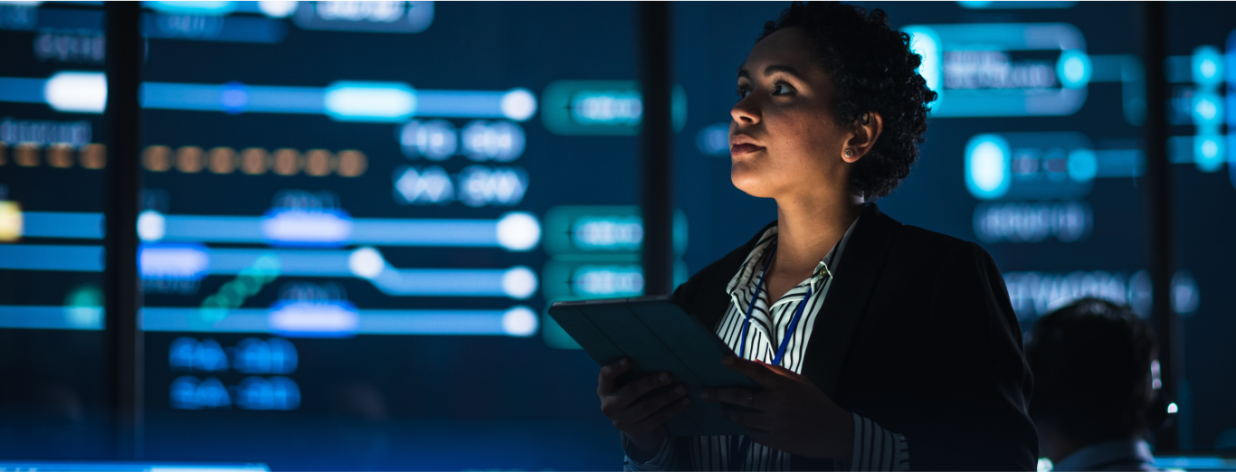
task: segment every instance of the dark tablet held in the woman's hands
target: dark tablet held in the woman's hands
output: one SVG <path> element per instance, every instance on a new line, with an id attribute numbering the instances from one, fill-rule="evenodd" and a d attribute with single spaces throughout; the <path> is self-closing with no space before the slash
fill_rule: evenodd
<path id="1" fill-rule="evenodd" d="M 667 371 L 675 383 L 687 384 L 691 407 L 666 424 L 671 435 L 747 434 L 745 428 L 721 415 L 719 404 L 700 399 L 700 392 L 717 387 L 759 390 L 760 386 L 721 363 L 734 351 L 684 311 L 674 297 L 557 301 L 549 315 L 598 365 L 627 356 L 633 362 L 628 378 Z"/>

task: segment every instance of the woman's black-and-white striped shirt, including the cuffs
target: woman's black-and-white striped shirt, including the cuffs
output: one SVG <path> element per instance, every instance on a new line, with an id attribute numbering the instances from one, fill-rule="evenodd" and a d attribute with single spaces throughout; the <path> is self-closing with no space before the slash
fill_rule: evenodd
<path id="1" fill-rule="evenodd" d="M 751 322 L 747 334 L 747 346 L 743 357 L 753 361 L 772 362 L 776 350 L 781 345 L 781 336 L 785 335 L 797 310 L 798 304 L 806 303 L 802 310 L 802 319 L 790 335 L 790 343 L 786 346 L 781 366 L 802 372 L 803 356 L 807 352 L 807 343 L 811 341 L 811 331 L 819 316 L 819 309 L 824 304 L 824 297 L 832 285 L 832 273 L 837 272 L 840 264 L 840 256 L 845 250 L 850 234 L 858 225 L 855 220 L 842 237 L 837 246 L 828 252 L 819 263 L 811 278 L 802 280 L 796 287 L 786 292 L 776 303 L 769 305 L 768 292 L 761 288 L 755 293 L 760 273 L 764 268 L 764 258 L 776 242 L 777 229 L 770 227 L 760 237 L 760 241 L 747 256 L 743 267 L 729 280 L 726 290 L 729 292 L 730 304 L 726 316 L 717 326 L 717 335 L 738 352 L 743 337 L 743 320 L 747 318 L 747 308 L 754 301 L 751 310 Z M 808 288 L 811 298 L 803 300 Z M 737 441 L 734 441 L 737 442 Z M 629 456 L 624 461 L 623 470 L 627 472 L 660 472 L 677 470 L 675 461 L 690 458 L 695 472 L 790 472 L 790 455 L 751 442 L 747 453 L 747 461 L 742 471 L 727 471 L 730 455 L 730 436 L 696 436 L 691 437 L 691 450 L 687 453 L 676 451 L 675 441 L 666 440 L 648 462 L 635 462 Z M 623 449 L 629 450 L 627 436 L 623 435 Z M 910 470 L 910 455 L 905 436 L 880 428 L 874 421 L 854 415 L 854 455 L 850 460 L 852 472 L 897 472 Z"/>

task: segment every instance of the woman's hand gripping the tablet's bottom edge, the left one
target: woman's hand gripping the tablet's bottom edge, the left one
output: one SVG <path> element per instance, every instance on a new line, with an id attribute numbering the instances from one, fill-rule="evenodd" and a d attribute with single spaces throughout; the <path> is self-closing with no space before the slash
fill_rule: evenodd
<path id="1" fill-rule="evenodd" d="M 651 458 L 665 440 L 665 421 L 682 413 L 691 404 L 687 386 L 670 386 L 674 378 L 669 372 L 659 372 L 640 377 L 624 386 L 618 384 L 618 376 L 630 369 L 630 360 L 623 357 L 601 368 L 597 381 L 597 397 L 601 397 L 601 413 L 613 421 L 632 446 L 638 451 L 632 457 L 644 462 Z M 653 390 L 661 389 L 649 394 Z"/>

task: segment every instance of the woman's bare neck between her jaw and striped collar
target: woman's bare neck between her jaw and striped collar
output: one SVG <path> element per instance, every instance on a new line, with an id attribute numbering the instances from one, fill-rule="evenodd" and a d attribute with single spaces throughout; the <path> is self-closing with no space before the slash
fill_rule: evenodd
<path id="1" fill-rule="evenodd" d="M 777 199 L 774 272 L 806 278 L 863 213 L 861 198 Z"/>

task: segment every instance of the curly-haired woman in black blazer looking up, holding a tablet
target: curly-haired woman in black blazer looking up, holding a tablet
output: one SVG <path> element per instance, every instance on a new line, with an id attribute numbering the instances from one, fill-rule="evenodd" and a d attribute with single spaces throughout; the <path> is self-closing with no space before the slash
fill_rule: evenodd
<path id="1" fill-rule="evenodd" d="M 734 185 L 777 219 L 679 287 L 759 392 L 706 390 L 744 437 L 669 437 L 692 402 L 664 373 L 601 410 L 630 471 L 1032 471 L 1031 379 L 995 262 L 873 203 L 910 173 L 936 94 L 881 10 L 795 1 L 738 72 Z"/>

